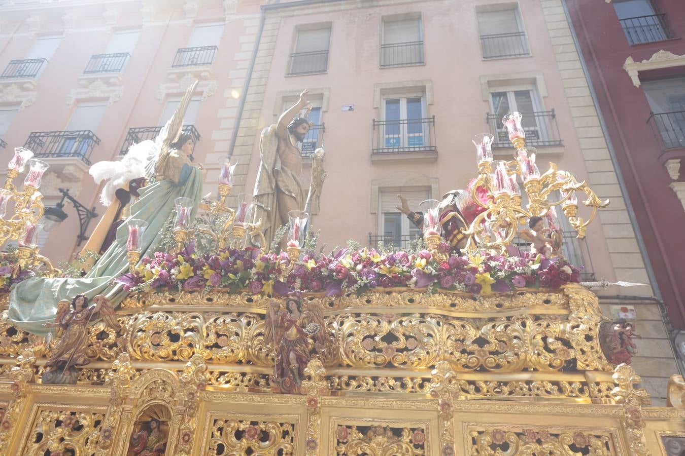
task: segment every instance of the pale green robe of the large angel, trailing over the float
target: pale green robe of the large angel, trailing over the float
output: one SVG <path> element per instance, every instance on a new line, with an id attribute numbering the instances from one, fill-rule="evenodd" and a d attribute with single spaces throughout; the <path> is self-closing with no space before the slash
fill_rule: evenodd
<path id="1" fill-rule="evenodd" d="M 194 200 L 195 207 L 191 217 L 195 217 L 201 200 L 202 180 L 201 170 L 184 165 L 179 179 L 182 185 L 165 179 L 140 191 L 140 199 L 132 205 L 129 217 L 149 223 L 143 235 L 144 248 L 140 252 L 140 258 L 153 256 L 158 251 L 164 227 L 175 213 L 176 198 L 183 196 Z M 126 273 L 129 268 L 126 256 L 129 219 L 116 230 L 116 241 L 85 277 L 31 278 L 16 284 L 10 293 L 8 315 L 12 323 L 22 330 L 43 336 L 49 330 L 42 325 L 54 321 L 57 303 L 62 299 L 72 299 L 75 295 L 86 295 L 88 299 L 105 295 L 113 306 L 119 306 L 127 293 L 123 290 L 123 284 L 114 282 L 114 279 Z"/>

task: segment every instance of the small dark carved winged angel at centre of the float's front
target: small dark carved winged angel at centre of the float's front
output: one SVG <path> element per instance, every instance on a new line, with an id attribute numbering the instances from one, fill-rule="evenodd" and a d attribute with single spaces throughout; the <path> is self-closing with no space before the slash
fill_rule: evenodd
<path id="1" fill-rule="evenodd" d="M 333 355 L 332 339 L 326 330 L 321 307 L 310 303 L 303 312 L 299 299 L 286 299 L 285 308 L 275 299 L 271 300 L 266 312 L 264 340 L 276 353 L 276 392 L 299 394 L 312 350 L 320 358 Z"/>

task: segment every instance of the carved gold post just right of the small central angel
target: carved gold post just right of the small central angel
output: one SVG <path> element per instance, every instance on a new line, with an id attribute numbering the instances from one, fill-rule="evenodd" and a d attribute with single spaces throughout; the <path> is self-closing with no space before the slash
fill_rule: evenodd
<path id="1" fill-rule="evenodd" d="M 321 360 L 311 360 L 304 369 L 305 380 L 300 391 L 307 397 L 306 456 L 318 456 L 321 446 L 321 396 L 331 394 L 326 381 L 326 370 Z"/>

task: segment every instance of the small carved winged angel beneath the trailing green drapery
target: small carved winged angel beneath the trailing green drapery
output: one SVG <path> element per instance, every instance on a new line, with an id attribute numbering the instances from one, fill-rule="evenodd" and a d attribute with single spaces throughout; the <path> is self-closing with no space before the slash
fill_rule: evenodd
<path id="1" fill-rule="evenodd" d="M 45 323 L 45 327 L 58 328 L 61 337 L 45 363 L 47 369 L 42 375 L 42 383 L 76 383 L 77 367 L 90 363 L 90 358 L 86 356 L 90 321 L 101 317 L 106 324 L 119 329 L 110 301 L 103 295 L 97 295 L 93 301 L 95 305 L 88 307 L 88 298 L 84 295 L 76 295 L 71 302 L 63 299 L 58 304 L 55 323 Z"/>

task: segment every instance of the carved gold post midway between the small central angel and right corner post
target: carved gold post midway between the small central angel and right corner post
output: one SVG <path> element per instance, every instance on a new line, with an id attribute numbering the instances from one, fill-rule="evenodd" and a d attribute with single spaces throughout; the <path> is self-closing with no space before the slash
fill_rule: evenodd
<path id="1" fill-rule="evenodd" d="M 454 422 L 452 402 L 457 388 L 457 373 L 447 361 L 436 364 L 431 373 L 430 395 L 438 399 L 438 420 L 440 421 L 440 454 L 454 455 Z"/>

